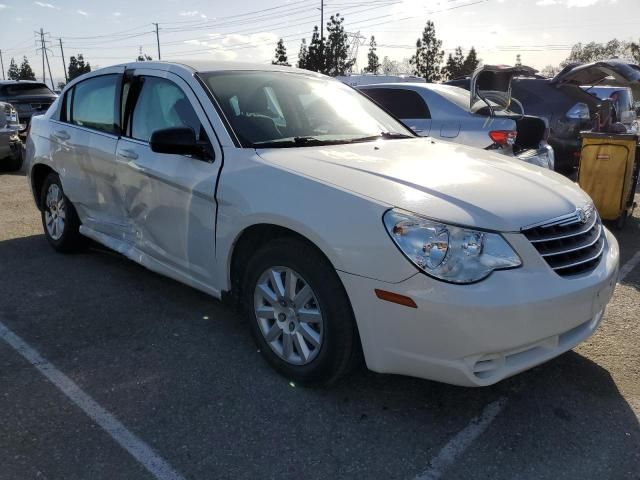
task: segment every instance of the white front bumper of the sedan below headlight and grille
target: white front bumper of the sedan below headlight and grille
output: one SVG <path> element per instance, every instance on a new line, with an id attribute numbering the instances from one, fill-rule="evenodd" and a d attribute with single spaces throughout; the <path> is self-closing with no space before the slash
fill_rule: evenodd
<path id="1" fill-rule="evenodd" d="M 563 278 L 520 234 L 505 235 L 523 266 L 472 285 L 418 273 L 389 284 L 340 273 L 369 369 L 462 386 L 485 386 L 575 347 L 598 327 L 618 275 L 618 244 L 591 273 Z M 412 298 L 409 308 L 376 298 L 382 289 Z"/>

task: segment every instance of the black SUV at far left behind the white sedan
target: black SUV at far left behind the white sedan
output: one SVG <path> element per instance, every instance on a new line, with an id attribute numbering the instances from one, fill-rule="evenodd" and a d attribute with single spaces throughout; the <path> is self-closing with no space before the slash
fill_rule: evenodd
<path id="1" fill-rule="evenodd" d="M 32 115 L 45 113 L 56 98 L 58 98 L 57 95 L 41 82 L 0 81 L 0 102 L 7 102 L 14 106 L 24 128 L 29 125 Z"/>

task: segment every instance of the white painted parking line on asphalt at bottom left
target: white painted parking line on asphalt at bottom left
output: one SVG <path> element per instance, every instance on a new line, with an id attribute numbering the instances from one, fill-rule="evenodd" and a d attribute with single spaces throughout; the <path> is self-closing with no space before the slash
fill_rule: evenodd
<path id="1" fill-rule="evenodd" d="M 165 462 L 149 445 L 131 433 L 120 421 L 83 392 L 69 377 L 43 358 L 28 343 L 0 322 L 0 339 L 22 355 L 49 379 L 69 400 L 107 432 L 158 480 L 182 480 L 182 476 Z"/>

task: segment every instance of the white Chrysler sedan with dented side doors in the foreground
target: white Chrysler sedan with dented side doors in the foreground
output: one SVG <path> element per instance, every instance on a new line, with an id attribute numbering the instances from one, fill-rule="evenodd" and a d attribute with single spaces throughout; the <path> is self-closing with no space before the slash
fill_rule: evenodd
<path id="1" fill-rule="evenodd" d="M 598 327 L 618 245 L 548 170 L 416 137 L 288 67 L 144 62 L 65 88 L 27 166 L 49 243 L 85 237 L 242 307 L 266 360 L 495 383 Z"/>

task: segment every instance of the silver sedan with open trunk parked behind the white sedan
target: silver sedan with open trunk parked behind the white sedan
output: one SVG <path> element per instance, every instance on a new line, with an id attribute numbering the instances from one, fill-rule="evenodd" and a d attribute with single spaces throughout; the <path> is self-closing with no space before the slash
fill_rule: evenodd
<path id="1" fill-rule="evenodd" d="M 420 136 L 492 150 L 553 170 L 544 119 L 512 111 L 511 79 L 531 75 L 529 67 L 486 65 L 471 79 L 472 94 L 432 83 L 371 84 L 357 87 Z M 517 103 L 517 102 L 516 102 Z"/>

